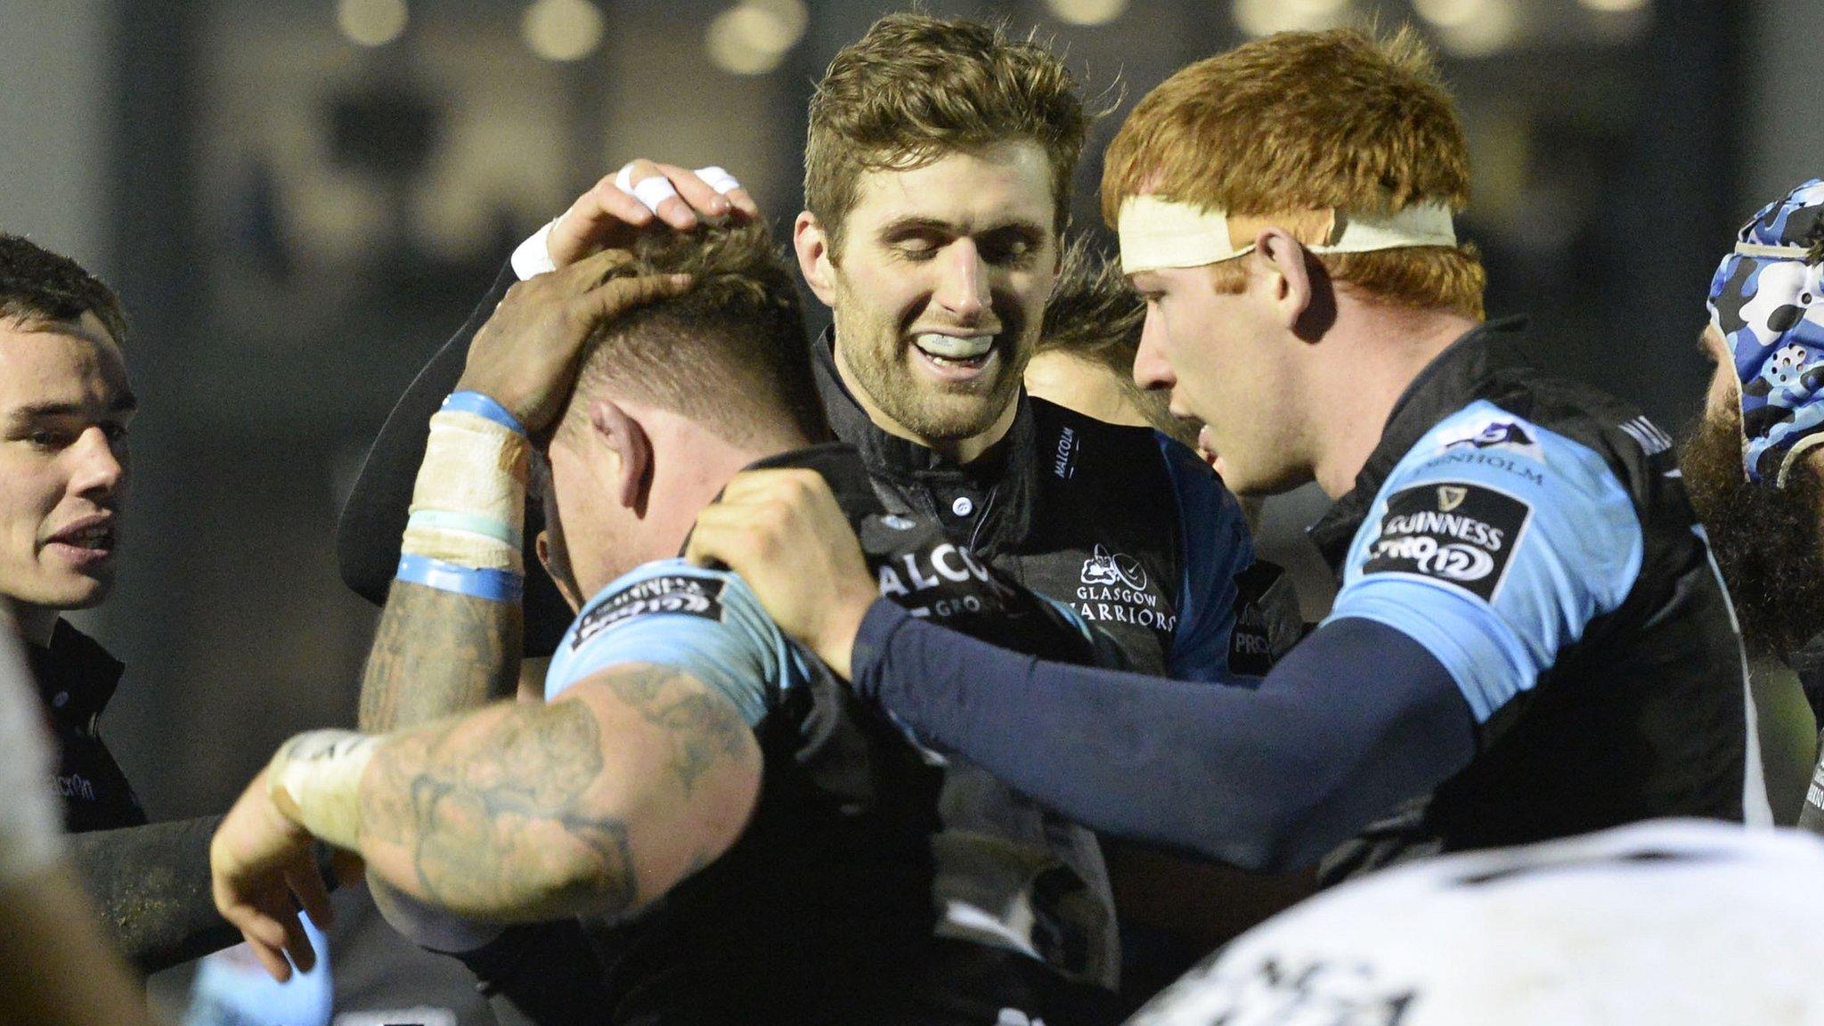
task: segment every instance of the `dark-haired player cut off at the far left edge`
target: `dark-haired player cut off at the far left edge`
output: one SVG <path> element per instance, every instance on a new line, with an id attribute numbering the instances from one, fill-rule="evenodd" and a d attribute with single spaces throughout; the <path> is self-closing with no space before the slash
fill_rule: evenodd
<path id="1" fill-rule="evenodd" d="M 113 592 L 126 511 L 126 316 L 75 261 L 0 234 L 0 604 L 57 739 L 71 862 L 140 969 L 233 944 L 208 896 L 221 816 L 146 823 L 97 730 L 122 665 L 62 617 Z"/>

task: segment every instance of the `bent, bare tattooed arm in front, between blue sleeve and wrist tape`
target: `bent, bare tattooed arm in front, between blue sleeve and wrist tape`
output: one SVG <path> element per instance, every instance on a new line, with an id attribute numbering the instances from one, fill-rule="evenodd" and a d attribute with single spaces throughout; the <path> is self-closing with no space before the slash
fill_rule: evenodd
<path id="1" fill-rule="evenodd" d="M 617 916 L 720 854 L 757 789 L 733 703 L 618 666 L 551 705 L 390 738 L 361 789 L 361 847 L 383 882 L 461 915 Z"/>

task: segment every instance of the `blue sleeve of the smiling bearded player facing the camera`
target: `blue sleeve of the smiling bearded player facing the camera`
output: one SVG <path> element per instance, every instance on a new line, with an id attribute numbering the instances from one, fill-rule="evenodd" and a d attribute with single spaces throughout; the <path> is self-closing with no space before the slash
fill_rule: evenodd
<path id="1" fill-rule="evenodd" d="M 1229 683 L 1237 579 L 1253 566 L 1253 539 L 1240 502 L 1222 478 L 1180 442 L 1158 434 L 1158 444 L 1178 497 L 1184 533 L 1178 626 L 1166 670 L 1180 681 Z"/>

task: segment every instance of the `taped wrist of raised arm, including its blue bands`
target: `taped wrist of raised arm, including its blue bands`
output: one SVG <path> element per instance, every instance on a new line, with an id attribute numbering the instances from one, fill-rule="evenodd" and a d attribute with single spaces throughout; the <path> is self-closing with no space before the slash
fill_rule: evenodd
<path id="1" fill-rule="evenodd" d="M 480 393 L 430 418 L 399 544 L 399 581 L 518 602 L 529 449 L 518 422 Z"/>

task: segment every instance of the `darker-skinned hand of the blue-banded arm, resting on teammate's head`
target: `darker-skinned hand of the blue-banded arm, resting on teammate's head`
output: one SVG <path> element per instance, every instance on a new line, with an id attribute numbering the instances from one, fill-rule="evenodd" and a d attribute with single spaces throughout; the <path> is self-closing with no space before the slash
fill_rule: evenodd
<path id="1" fill-rule="evenodd" d="M 626 250 L 604 250 L 509 288 L 469 345 L 456 389 L 492 398 L 538 438 L 562 413 L 596 325 L 689 288 L 686 274 L 607 277 L 627 259 Z"/>

